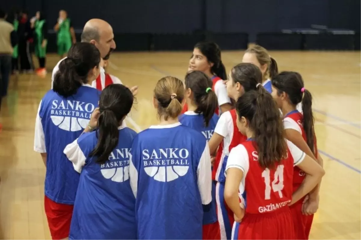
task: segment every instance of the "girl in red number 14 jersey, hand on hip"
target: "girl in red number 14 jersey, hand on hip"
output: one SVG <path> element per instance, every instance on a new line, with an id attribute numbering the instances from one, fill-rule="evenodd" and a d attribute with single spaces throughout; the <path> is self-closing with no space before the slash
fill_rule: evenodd
<path id="1" fill-rule="evenodd" d="M 236 111 L 238 130 L 247 140 L 231 150 L 225 170 L 225 201 L 236 222 L 232 235 L 239 240 L 295 239 L 289 205 L 311 191 L 325 172 L 284 139 L 277 105 L 262 86 L 239 97 Z M 292 194 L 296 165 L 307 175 Z"/>

